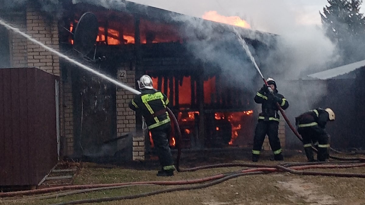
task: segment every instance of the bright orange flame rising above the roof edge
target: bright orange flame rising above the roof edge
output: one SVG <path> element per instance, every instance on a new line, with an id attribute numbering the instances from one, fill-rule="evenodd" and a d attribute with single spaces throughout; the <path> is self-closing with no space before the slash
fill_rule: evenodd
<path id="1" fill-rule="evenodd" d="M 222 16 L 217 11 L 205 12 L 202 16 L 203 19 L 211 20 L 214 22 L 230 24 L 233 26 L 239 26 L 243 28 L 250 28 L 250 24 L 245 20 L 239 18 L 239 16 Z"/>

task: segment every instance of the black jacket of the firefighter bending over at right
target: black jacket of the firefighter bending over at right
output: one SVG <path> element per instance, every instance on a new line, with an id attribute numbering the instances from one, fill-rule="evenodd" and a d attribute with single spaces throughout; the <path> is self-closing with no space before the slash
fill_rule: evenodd
<path id="1" fill-rule="evenodd" d="M 325 128 L 329 121 L 328 112 L 322 108 L 316 108 L 307 111 L 295 118 L 297 127 L 312 127 L 318 125 L 320 128 Z"/>

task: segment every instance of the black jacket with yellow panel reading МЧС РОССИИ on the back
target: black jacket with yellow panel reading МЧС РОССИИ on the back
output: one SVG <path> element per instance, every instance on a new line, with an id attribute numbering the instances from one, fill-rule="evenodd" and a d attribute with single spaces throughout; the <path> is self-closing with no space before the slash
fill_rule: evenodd
<path id="1" fill-rule="evenodd" d="M 170 117 L 166 111 L 168 104 L 169 99 L 161 91 L 142 89 L 141 94 L 129 102 L 129 107 L 134 111 L 141 110 L 148 129 L 153 129 L 170 123 Z"/>

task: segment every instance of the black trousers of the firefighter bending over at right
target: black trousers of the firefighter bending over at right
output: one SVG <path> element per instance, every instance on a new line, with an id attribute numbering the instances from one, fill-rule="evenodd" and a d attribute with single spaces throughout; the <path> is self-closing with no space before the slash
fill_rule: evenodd
<path id="1" fill-rule="evenodd" d="M 329 144 L 326 130 L 315 125 L 311 127 L 300 127 L 298 128 L 298 133 L 303 139 L 304 151 L 306 152 L 308 161 L 314 161 L 312 147 L 309 147 L 309 144 L 312 143 L 318 143 L 318 147 L 316 147 L 318 150 L 318 161 L 325 161 L 328 158 L 328 148 L 326 146 L 329 146 Z"/>

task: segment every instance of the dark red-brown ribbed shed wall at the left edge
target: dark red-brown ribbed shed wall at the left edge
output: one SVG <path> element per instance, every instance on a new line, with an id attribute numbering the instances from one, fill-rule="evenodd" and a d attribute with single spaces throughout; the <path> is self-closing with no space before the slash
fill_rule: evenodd
<path id="1" fill-rule="evenodd" d="M 38 185 L 56 165 L 58 80 L 34 67 L 0 69 L 0 186 Z"/>

